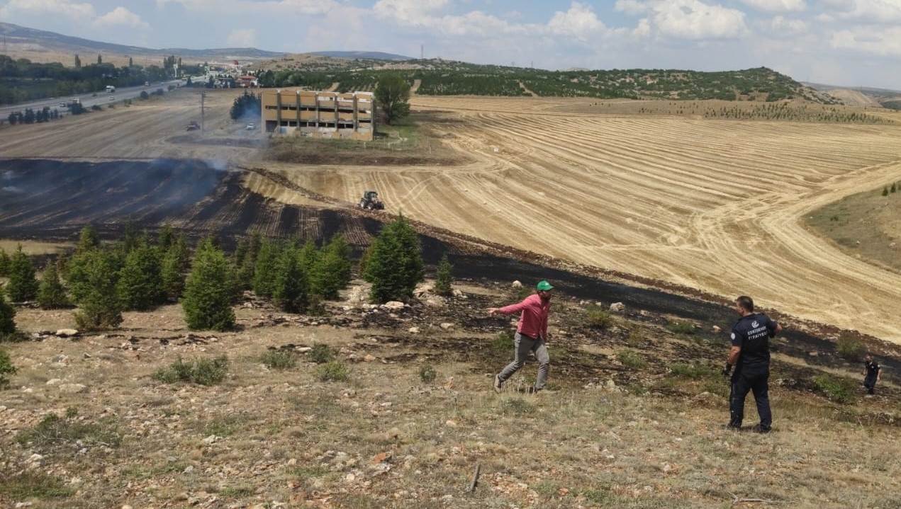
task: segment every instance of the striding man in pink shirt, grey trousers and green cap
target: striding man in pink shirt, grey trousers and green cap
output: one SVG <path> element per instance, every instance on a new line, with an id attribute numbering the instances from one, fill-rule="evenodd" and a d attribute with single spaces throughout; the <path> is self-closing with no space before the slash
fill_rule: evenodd
<path id="1" fill-rule="evenodd" d="M 511 304 L 504 308 L 488 308 L 489 315 L 513 315 L 522 312 L 516 324 L 514 335 L 514 359 L 507 364 L 504 371 L 495 377 L 495 392 L 500 392 L 504 382 L 523 367 L 529 353 L 535 353 L 538 360 L 538 380 L 535 380 L 535 392 L 542 390 L 548 381 L 548 369 L 551 357 L 548 355 L 548 311 L 551 310 L 551 294 L 554 287 L 548 281 L 539 281 L 535 293 L 526 297 L 519 304 Z"/>

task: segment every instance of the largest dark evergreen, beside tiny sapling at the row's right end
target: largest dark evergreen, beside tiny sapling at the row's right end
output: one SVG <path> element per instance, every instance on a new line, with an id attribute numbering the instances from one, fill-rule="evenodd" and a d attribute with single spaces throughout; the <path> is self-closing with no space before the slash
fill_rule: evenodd
<path id="1" fill-rule="evenodd" d="M 373 242 L 366 264 L 367 281 L 372 283 L 369 299 L 408 299 L 424 275 L 419 237 L 404 216 L 398 216 Z"/>

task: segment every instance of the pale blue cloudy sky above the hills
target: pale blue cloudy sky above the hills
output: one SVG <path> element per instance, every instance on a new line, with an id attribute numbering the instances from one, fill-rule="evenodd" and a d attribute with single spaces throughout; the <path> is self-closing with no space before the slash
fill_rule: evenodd
<path id="1" fill-rule="evenodd" d="M 901 0 L 0 0 L 0 22 L 154 49 L 384 51 L 551 70 L 769 67 L 901 90 Z"/>

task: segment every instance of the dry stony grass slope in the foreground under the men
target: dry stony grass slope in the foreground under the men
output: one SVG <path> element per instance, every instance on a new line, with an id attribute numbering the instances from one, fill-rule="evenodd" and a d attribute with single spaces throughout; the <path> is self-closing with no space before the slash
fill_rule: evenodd
<path id="1" fill-rule="evenodd" d="M 632 385 L 612 387 L 602 382 L 615 371 L 580 380 L 552 367 L 560 390 L 530 395 L 514 389 L 533 377 L 530 363 L 496 395 L 484 359 L 419 350 L 388 361 L 417 351 L 371 339 L 390 331 L 290 319 L 259 326 L 267 311 L 250 308 L 239 308 L 238 317 L 242 331 L 191 339 L 180 309 L 168 307 L 127 314 L 123 330 L 108 335 L 5 344 L 20 372 L 14 388 L 0 392 L 0 502 L 28 501 L 32 509 L 688 508 L 732 506 L 737 497 L 824 509 L 849 500 L 888 508 L 887 494 L 901 490 L 896 426 L 864 418 L 876 400 L 834 406 L 774 383 L 775 432 L 734 433 L 721 428 L 726 384 L 709 369 L 654 375 L 649 368 Z M 28 331 L 67 319 L 34 309 L 17 318 Z M 634 354 L 659 362 L 661 329 L 623 322 L 634 335 L 655 337 Z M 429 339 L 455 334 L 472 333 Z M 172 335 L 183 339 L 156 339 Z M 332 362 L 349 368 L 347 379 L 321 381 L 317 370 L 327 364 L 309 353 L 294 367 L 268 367 L 267 347 L 287 343 L 327 345 Z M 600 366 L 622 352 L 632 353 L 561 341 L 551 356 L 578 354 Z M 487 361 L 499 369 L 508 354 Z M 228 374 L 219 384 L 154 380 L 179 358 L 222 355 Z M 434 375 L 427 382 L 425 365 Z M 750 397 L 747 412 L 751 424 Z M 46 431 L 50 424 L 41 423 L 50 413 L 59 416 L 60 440 L 39 445 L 36 430 Z M 105 438 L 87 438 L 98 436 Z M 467 493 L 477 465 L 478 487 Z"/>

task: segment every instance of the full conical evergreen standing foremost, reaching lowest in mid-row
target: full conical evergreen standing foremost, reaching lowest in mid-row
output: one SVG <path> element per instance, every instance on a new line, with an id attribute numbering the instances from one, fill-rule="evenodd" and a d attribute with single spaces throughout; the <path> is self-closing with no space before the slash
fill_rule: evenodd
<path id="1" fill-rule="evenodd" d="M 185 282 L 181 306 L 192 330 L 224 331 L 234 327 L 232 266 L 221 249 L 205 239 L 197 246 Z"/>

